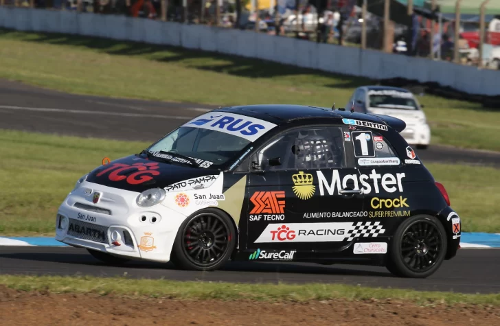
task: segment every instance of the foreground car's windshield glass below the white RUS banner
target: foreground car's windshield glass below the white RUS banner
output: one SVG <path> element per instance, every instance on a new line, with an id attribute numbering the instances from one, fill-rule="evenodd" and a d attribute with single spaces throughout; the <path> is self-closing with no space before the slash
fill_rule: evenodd
<path id="1" fill-rule="evenodd" d="M 249 143 L 247 139 L 225 132 L 181 127 L 148 148 L 148 152 L 174 152 L 223 165 Z"/>

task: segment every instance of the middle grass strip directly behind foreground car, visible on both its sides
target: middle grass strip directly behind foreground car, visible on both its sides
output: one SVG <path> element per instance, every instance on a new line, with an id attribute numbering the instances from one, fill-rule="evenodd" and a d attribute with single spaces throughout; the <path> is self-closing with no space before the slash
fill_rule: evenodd
<path id="1" fill-rule="evenodd" d="M 137 153 L 148 143 L 0 130 L 0 235 L 54 235 L 57 209 L 80 176 L 108 156 Z M 500 170 L 429 164 L 462 218 L 462 231 L 500 232 Z"/>

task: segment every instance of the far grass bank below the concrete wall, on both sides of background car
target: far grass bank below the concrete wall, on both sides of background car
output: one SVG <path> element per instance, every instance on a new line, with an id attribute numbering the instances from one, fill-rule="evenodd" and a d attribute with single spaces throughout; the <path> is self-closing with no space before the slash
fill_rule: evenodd
<path id="1" fill-rule="evenodd" d="M 174 47 L 0 30 L 0 78 L 70 93 L 170 102 L 344 106 L 373 80 Z M 500 111 L 419 97 L 432 143 L 500 151 Z"/>

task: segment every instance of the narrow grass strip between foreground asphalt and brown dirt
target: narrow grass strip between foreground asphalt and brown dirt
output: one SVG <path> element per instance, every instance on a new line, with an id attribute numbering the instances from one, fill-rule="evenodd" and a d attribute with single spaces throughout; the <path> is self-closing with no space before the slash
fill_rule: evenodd
<path id="1" fill-rule="evenodd" d="M 453 292 L 417 292 L 382 288 L 361 288 L 340 284 L 234 284 L 221 282 L 180 282 L 122 277 L 30 277 L 0 275 L 0 284 L 16 290 L 52 293 L 94 293 L 101 295 L 149 296 L 168 299 L 222 299 L 255 301 L 349 301 L 390 300 L 419 305 L 473 304 L 500 305 L 500 294 L 459 294 Z"/>

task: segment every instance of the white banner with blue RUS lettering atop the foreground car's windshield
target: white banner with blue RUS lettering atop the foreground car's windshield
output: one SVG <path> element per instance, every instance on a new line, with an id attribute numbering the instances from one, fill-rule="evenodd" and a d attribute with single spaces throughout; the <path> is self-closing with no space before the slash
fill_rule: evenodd
<path id="1" fill-rule="evenodd" d="M 255 141 L 276 125 L 261 119 L 247 117 L 246 115 L 217 112 L 201 115 L 183 126 L 216 130 L 247 139 L 248 141 Z"/>

